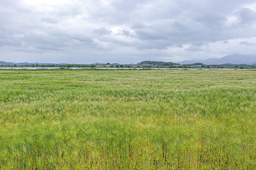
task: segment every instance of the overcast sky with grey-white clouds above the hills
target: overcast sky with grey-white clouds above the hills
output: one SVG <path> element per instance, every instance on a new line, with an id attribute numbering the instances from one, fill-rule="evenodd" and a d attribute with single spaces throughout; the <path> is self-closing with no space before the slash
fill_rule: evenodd
<path id="1" fill-rule="evenodd" d="M 0 60 L 178 62 L 256 54 L 255 0 L 0 0 Z"/>

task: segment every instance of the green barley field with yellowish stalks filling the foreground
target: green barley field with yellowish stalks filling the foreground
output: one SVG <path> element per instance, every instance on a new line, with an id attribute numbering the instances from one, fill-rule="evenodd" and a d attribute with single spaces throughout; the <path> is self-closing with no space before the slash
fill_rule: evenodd
<path id="1" fill-rule="evenodd" d="M 255 70 L 0 71 L 0 170 L 253 169 Z"/>

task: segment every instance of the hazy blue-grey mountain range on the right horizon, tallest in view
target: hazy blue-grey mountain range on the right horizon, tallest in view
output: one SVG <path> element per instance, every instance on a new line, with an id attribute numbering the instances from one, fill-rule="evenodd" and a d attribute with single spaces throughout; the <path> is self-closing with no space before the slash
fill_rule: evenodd
<path id="1" fill-rule="evenodd" d="M 201 62 L 203 64 L 248 64 L 256 63 L 256 55 L 242 55 L 242 54 L 233 54 L 226 55 L 221 58 L 209 58 L 206 60 L 184 60 L 181 62 L 177 62 L 179 64 L 192 64 L 195 62 Z"/>

